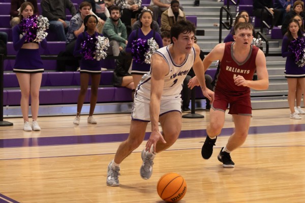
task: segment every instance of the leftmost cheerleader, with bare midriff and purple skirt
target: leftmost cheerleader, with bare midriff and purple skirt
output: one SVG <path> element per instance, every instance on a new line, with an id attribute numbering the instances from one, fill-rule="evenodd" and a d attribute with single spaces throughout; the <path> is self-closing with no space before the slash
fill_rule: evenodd
<path id="1" fill-rule="evenodd" d="M 30 2 L 24 2 L 20 6 L 20 20 L 34 14 L 34 6 Z M 24 120 L 23 130 L 40 130 L 37 123 L 39 109 L 39 89 L 41 85 L 43 63 L 39 54 L 38 42 L 25 41 L 26 33 L 22 33 L 21 26 L 13 28 L 13 46 L 17 51 L 13 72 L 16 73 L 21 90 L 21 111 Z M 20 38 L 21 37 L 21 38 Z M 47 41 L 40 42 L 45 49 Z M 32 125 L 28 120 L 29 96 L 31 95 Z"/>

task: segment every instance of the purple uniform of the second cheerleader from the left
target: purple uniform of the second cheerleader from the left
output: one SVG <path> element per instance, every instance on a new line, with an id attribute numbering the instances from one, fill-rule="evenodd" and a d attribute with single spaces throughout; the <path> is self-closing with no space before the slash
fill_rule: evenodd
<path id="1" fill-rule="evenodd" d="M 100 34 L 98 32 L 94 33 L 94 36 L 97 37 Z M 87 36 L 89 36 L 88 32 L 84 31 L 82 32 L 76 40 L 75 43 L 75 48 L 73 55 L 74 56 L 79 56 L 82 55 L 80 53 L 81 51 L 81 43 L 87 39 Z M 100 35 L 103 36 L 103 35 Z M 83 56 L 80 61 L 80 73 L 88 73 L 88 74 L 101 74 L 101 67 L 102 67 L 102 61 L 101 60 L 90 60 L 90 59 L 85 59 Z"/>

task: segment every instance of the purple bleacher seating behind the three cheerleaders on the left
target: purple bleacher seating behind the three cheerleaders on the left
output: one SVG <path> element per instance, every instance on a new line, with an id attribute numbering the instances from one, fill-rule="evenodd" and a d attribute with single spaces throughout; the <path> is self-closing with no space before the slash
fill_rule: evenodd
<path id="1" fill-rule="evenodd" d="M 75 7 L 83 0 L 72 0 Z M 145 2 L 145 1 L 144 1 Z M 144 4 L 143 2 L 143 4 Z M 150 0 L 146 0 L 147 6 Z M 41 13 L 40 0 L 38 6 Z M 144 4 L 145 5 L 145 4 Z M 0 3 L 0 31 L 8 33 L 9 42 L 7 44 L 8 55 L 16 55 L 12 43 L 12 29 L 9 25 L 10 21 L 10 0 L 2 0 Z M 71 19 L 71 15 L 68 15 Z M 196 16 L 187 16 L 187 19 L 197 25 Z M 54 33 L 49 32 L 47 37 L 48 48 L 46 50 L 40 48 L 41 55 L 56 56 L 60 51 L 65 50 L 65 42 L 57 42 Z M 4 61 L 4 106 L 19 106 L 20 105 L 20 88 L 15 73 L 12 72 L 15 60 L 6 59 Z M 40 104 L 41 105 L 66 105 L 76 104 L 80 90 L 80 73 L 79 72 L 56 72 L 56 60 L 44 59 L 43 65 L 45 72 L 42 75 L 40 89 Z M 102 60 L 102 67 L 106 67 L 108 71 L 103 71 L 101 74 L 101 82 L 98 90 L 98 103 L 117 103 L 123 101 L 132 101 L 131 90 L 125 87 L 114 87 L 112 85 L 114 60 Z M 214 77 L 216 70 L 208 70 L 207 74 Z M 196 91 L 197 98 L 204 98 L 200 88 Z M 88 89 L 85 103 L 89 103 L 90 89 Z"/>

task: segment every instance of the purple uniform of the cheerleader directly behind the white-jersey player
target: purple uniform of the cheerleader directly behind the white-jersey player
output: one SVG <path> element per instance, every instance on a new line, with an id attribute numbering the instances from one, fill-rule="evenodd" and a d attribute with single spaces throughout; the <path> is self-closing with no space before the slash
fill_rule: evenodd
<path id="1" fill-rule="evenodd" d="M 150 32 L 148 32 L 148 34 L 145 36 L 144 33 L 142 32 L 142 29 L 139 28 L 137 30 L 133 30 L 130 33 L 130 36 L 128 38 L 128 43 L 126 46 L 126 52 L 131 53 L 133 41 L 137 40 L 139 38 L 141 38 L 143 40 L 149 40 L 150 38 L 154 38 L 155 41 L 157 42 L 157 44 L 159 45 L 159 49 L 163 47 L 162 38 L 158 32 L 151 29 Z M 150 63 L 148 63 L 148 64 L 145 62 L 137 63 L 135 60 L 133 60 L 131 74 L 144 75 L 147 72 L 149 72 L 149 70 L 150 70 Z"/>

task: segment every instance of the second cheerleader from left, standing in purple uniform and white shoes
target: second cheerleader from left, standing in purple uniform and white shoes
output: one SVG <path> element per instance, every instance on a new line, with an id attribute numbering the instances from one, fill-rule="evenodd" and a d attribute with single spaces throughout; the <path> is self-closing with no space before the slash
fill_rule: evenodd
<path id="1" fill-rule="evenodd" d="M 84 3 L 84 2 L 83 2 Z M 93 118 L 93 113 L 98 100 L 98 88 L 101 80 L 101 60 L 91 58 L 85 58 L 82 50 L 81 43 L 87 41 L 88 37 L 96 38 L 102 36 L 97 32 L 98 18 L 95 15 L 87 15 L 84 18 L 83 25 L 84 30 L 77 37 L 75 44 L 74 55 L 82 55 L 80 62 L 80 92 L 77 99 L 77 113 L 73 121 L 74 124 L 79 125 L 80 112 L 85 100 L 86 91 L 88 89 L 89 78 L 91 78 L 91 91 L 90 91 L 90 110 L 87 123 L 97 124 L 97 121 Z M 87 43 L 88 44 L 88 43 Z M 93 51 L 93 50 L 92 50 Z M 87 53 L 88 54 L 88 53 Z M 87 56 L 88 57 L 88 56 Z"/>

